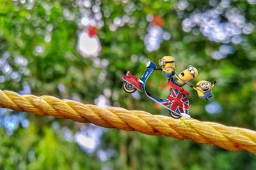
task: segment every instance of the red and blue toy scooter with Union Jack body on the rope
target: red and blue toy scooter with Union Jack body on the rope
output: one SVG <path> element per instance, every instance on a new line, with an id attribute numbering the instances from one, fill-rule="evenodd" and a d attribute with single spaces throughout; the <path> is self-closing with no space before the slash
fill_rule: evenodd
<path id="1" fill-rule="evenodd" d="M 148 98 L 168 109 L 172 118 L 179 119 L 181 117 L 184 117 L 186 119 L 190 119 L 191 116 L 189 116 L 188 112 L 190 107 L 189 100 L 187 98 L 189 97 L 188 91 L 180 88 L 173 82 L 168 81 L 168 84 L 170 84 L 172 88 L 170 88 L 170 94 L 167 98 L 157 98 L 154 95 L 148 93 L 145 83 L 156 69 L 156 64 L 152 61 L 148 61 L 147 69 L 145 70 L 140 79 L 138 77 L 135 77 L 131 74 L 131 72 L 128 71 L 126 75 L 122 77 L 122 79 L 124 80 L 124 91 L 127 93 L 134 93 L 134 91 L 136 91 L 137 89 L 139 91 L 144 91 Z"/>

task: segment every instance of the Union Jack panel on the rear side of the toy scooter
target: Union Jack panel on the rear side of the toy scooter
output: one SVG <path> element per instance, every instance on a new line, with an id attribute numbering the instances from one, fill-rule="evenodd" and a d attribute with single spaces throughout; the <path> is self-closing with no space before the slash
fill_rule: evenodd
<path id="1" fill-rule="evenodd" d="M 186 95 L 180 93 L 177 89 L 170 88 L 170 95 L 161 104 L 177 114 L 181 112 L 188 114 L 189 100 Z"/>

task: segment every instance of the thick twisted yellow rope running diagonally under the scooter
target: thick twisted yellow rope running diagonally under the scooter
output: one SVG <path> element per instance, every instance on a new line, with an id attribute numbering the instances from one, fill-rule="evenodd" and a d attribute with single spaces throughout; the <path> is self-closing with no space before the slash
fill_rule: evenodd
<path id="1" fill-rule="evenodd" d="M 51 96 L 19 95 L 0 90 L 0 107 L 51 115 L 100 127 L 137 130 L 148 135 L 166 135 L 191 139 L 197 143 L 214 144 L 226 150 L 247 150 L 256 153 L 256 132 L 246 128 L 227 127 L 219 123 L 186 120 L 144 111 L 128 111 L 120 107 L 98 107 Z"/>

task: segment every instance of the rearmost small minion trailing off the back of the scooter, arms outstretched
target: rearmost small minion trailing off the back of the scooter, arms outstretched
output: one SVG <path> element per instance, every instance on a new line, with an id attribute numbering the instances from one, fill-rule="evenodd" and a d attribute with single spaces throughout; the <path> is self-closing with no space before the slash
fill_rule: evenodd
<path id="1" fill-rule="evenodd" d="M 197 91 L 198 97 L 204 98 L 205 100 L 208 100 L 210 97 L 212 97 L 212 88 L 216 84 L 216 81 L 214 81 L 213 84 L 209 81 L 199 81 L 196 84 L 196 88 L 194 88 Z"/>

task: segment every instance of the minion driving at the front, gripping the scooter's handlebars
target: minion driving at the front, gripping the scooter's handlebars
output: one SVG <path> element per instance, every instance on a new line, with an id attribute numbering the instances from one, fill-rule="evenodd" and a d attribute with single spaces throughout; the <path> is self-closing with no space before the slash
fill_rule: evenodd
<path id="1" fill-rule="evenodd" d="M 175 73 L 175 64 L 173 56 L 164 56 L 163 58 L 159 59 L 158 61 L 161 68 L 163 75 L 168 79 L 171 79 Z"/>

